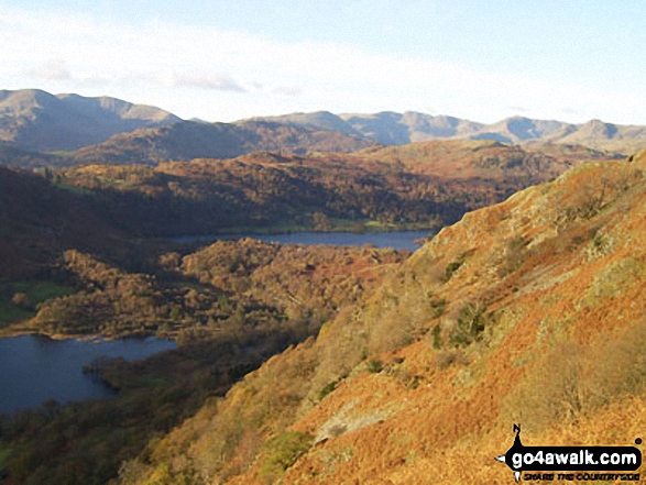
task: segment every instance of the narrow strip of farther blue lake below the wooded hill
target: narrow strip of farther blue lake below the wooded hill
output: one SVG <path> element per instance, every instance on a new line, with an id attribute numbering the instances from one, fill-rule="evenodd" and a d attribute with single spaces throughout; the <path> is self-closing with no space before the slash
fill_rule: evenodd
<path id="1" fill-rule="evenodd" d="M 209 244 L 217 240 L 238 240 L 253 238 L 260 241 L 281 244 L 328 244 L 338 246 L 362 246 L 374 244 L 376 247 L 394 247 L 395 250 L 415 251 L 419 244 L 415 241 L 424 239 L 436 231 L 396 231 L 396 232 L 294 232 L 289 234 L 218 234 L 218 235 L 183 235 L 172 238 L 177 243 Z"/>

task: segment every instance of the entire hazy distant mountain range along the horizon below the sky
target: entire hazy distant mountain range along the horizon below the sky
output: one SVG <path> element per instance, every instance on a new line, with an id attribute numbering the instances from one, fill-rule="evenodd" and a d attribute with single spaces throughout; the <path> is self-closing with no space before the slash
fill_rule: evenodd
<path id="1" fill-rule="evenodd" d="M 646 126 L 599 120 L 572 124 L 522 117 L 483 124 L 412 111 L 318 111 L 208 123 L 185 121 L 158 108 L 114 98 L 54 96 L 36 89 L 0 90 L 0 159 L 19 159 L 13 164 L 21 166 L 156 165 L 166 161 L 230 158 L 256 151 L 348 153 L 377 144 L 404 145 L 437 139 L 560 143 L 628 154 L 646 146 Z M 15 150 L 21 156 L 12 158 Z M 55 159 L 42 154 L 53 152 L 65 154 Z"/>

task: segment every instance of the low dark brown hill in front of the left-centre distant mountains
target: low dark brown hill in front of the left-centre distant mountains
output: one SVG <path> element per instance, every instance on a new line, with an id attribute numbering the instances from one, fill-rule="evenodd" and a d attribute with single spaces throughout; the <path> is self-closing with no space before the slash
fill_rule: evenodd
<path id="1" fill-rule="evenodd" d="M 116 135 L 81 148 L 75 164 L 145 164 L 194 158 L 232 158 L 256 151 L 287 153 L 353 152 L 374 143 L 342 133 L 266 121 L 200 123 L 184 121 L 154 130 Z"/>

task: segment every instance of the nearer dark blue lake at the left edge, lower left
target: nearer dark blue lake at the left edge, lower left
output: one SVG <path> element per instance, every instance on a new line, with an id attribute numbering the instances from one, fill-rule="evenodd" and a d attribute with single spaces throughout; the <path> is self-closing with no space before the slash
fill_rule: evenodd
<path id="1" fill-rule="evenodd" d="M 114 392 L 83 366 L 100 356 L 135 361 L 177 344 L 154 338 L 113 342 L 52 340 L 43 335 L 0 339 L 0 414 L 58 403 L 100 399 Z"/>

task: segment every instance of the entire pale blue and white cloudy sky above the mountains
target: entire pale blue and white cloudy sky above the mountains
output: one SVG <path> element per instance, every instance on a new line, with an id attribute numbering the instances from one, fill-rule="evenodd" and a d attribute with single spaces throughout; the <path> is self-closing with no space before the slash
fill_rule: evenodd
<path id="1" fill-rule="evenodd" d="M 644 0 L 0 0 L 0 89 L 182 118 L 646 124 Z"/>

